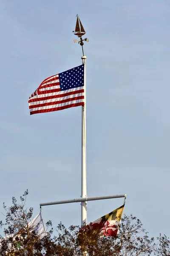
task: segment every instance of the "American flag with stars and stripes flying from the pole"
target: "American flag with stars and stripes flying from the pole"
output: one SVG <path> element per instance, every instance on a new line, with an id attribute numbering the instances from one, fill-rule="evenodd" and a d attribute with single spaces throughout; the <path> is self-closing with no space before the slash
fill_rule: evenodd
<path id="1" fill-rule="evenodd" d="M 31 115 L 84 106 L 84 64 L 46 78 L 28 103 Z"/>

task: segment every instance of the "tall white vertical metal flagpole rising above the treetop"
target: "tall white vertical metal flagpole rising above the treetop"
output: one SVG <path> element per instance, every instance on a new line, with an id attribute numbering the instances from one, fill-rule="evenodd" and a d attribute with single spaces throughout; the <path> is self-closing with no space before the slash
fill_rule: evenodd
<path id="1" fill-rule="evenodd" d="M 82 195 L 87 198 L 87 178 L 86 178 L 86 56 L 82 56 L 84 64 L 84 102 L 82 106 Z M 87 225 L 87 201 L 81 202 L 81 225 Z"/>

